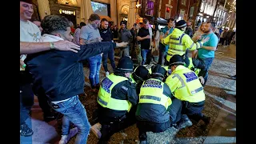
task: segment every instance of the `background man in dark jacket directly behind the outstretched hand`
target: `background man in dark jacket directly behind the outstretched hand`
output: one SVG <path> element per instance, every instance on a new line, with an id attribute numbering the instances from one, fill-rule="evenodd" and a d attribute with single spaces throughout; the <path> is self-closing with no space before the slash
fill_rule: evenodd
<path id="1" fill-rule="evenodd" d="M 118 30 L 118 42 L 128 42 L 126 47 L 123 47 L 120 51 L 121 57 L 130 56 L 130 43 L 132 42 L 133 35 L 130 33 L 130 30 L 126 28 L 126 21 L 120 22 L 121 29 Z"/>

